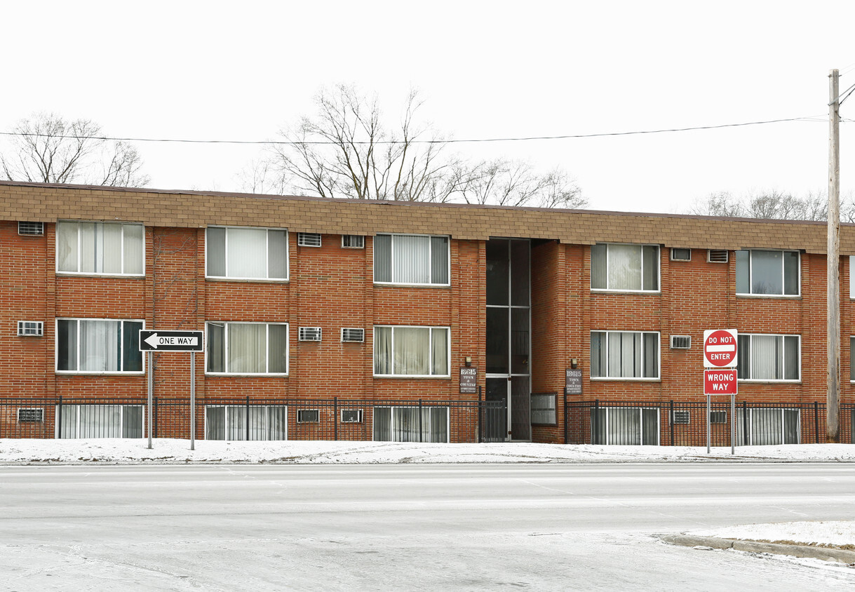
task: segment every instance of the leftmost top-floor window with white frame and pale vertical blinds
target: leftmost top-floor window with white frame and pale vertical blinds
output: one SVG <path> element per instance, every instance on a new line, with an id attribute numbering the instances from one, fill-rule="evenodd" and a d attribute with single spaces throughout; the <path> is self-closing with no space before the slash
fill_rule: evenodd
<path id="1" fill-rule="evenodd" d="M 145 227 L 121 222 L 56 222 L 56 271 L 145 275 Z"/>

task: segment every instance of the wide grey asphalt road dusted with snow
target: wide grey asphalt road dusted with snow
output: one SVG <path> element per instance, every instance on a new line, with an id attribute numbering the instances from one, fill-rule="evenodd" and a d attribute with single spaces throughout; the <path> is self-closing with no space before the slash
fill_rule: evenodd
<path id="1" fill-rule="evenodd" d="M 852 519 L 855 465 L 0 467 L 0 589 L 826 589 L 657 533 Z"/>

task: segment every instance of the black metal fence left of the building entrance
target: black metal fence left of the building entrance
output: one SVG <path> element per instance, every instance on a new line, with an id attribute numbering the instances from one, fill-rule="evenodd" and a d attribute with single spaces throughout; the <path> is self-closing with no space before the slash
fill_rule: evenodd
<path id="1" fill-rule="evenodd" d="M 152 436 L 208 440 L 496 441 L 504 400 L 154 398 Z M 142 438 L 147 401 L 3 399 L 0 438 Z"/>

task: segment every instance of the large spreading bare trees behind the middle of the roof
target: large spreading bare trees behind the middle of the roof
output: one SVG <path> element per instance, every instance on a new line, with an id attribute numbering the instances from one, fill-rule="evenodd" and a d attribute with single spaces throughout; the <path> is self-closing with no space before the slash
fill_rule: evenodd
<path id="1" fill-rule="evenodd" d="M 377 98 L 353 86 L 322 90 L 317 113 L 280 132 L 272 157 L 240 175 L 245 191 L 273 188 L 321 197 L 472 204 L 585 207 L 581 190 L 561 170 L 540 175 L 528 163 L 469 163 L 449 154 L 432 127 L 416 122 L 422 106 L 411 91 L 394 129 Z"/>

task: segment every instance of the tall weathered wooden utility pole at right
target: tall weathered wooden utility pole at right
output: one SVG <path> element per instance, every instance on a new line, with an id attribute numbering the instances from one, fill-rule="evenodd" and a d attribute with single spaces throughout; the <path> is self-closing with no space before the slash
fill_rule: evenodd
<path id="1" fill-rule="evenodd" d="M 828 442 L 840 442 L 840 73 L 828 74 Z"/>

